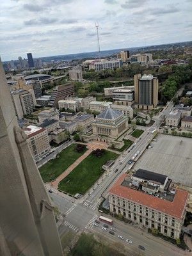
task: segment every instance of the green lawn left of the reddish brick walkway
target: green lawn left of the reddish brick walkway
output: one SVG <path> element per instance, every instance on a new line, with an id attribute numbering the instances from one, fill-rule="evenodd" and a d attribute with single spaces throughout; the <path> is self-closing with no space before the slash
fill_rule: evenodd
<path id="1" fill-rule="evenodd" d="M 60 152 L 60 157 L 50 160 L 39 168 L 40 175 L 44 182 L 50 182 L 56 179 L 87 150 L 87 148 L 85 148 L 82 153 L 78 153 L 74 151 L 74 148 L 76 148 L 76 144 L 70 145 Z"/>

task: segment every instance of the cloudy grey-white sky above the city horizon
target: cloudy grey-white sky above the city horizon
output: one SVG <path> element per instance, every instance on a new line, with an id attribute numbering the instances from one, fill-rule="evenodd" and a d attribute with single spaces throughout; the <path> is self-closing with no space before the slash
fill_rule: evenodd
<path id="1" fill-rule="evenodd" d="M 0 0 L 2 61 L 192 40 L 191 0 Z"/>

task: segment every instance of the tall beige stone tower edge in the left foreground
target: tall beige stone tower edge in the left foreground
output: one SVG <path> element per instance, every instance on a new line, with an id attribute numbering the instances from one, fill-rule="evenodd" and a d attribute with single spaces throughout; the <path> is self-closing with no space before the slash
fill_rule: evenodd
<path id="1" fill-rule="evenodd" d="M 0 256 L 60 256 L 54 207 L 26 139 L 0 60 Z"/>

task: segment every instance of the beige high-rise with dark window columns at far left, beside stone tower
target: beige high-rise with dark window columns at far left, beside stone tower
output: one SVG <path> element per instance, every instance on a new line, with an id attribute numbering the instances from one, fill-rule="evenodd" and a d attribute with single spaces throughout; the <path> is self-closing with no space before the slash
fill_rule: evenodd
<path id="1" fill-rule="evenodd" d="M 11 96 L 17 118 L 21 119 L 24 115 L 30 115 L 33 113 L 33 109 L 36 105 L 33 90 L 15 90 L 11 93 Z"/>

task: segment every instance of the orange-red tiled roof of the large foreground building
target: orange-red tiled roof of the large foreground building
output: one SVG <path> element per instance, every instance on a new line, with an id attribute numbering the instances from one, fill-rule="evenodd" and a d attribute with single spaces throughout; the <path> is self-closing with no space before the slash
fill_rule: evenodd
<path id="1" fill-rule="evenodd" d="M 127 174 L 122 174 L 113 187 L 109 189 L 109 194 L 145 205 L 145 207 L 164 212 L 164 214 L 169 214 L 175 218 L 183 218 L 189 196 L 187 191 L 176 189 L 174 200 L 170 202 L 147 193 L 141 193 L 141 191 L 128 188 L 127 186 L 122 186 L 122 182 L 124 182 L 126 177 L 128 177 Z"/>

